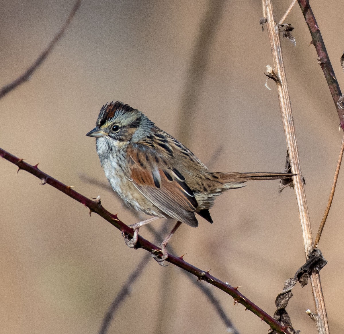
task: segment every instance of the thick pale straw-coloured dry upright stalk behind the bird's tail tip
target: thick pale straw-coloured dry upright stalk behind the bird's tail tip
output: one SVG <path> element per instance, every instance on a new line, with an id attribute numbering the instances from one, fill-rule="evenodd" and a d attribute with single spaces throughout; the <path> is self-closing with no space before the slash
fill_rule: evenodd
<path id="1" fill-rule="evenodd" d="M 302 181 L 302 173 L 299 161 L 298 146 L 295 135 L 294 121 L 291 112 L 291 103 L 287 87 L 287 78 L 284 70 L 281 41 L 279 28 L 273 16 L 273 8 L 270 0 L 262 0 L 264 17 L 267 19 L 267 30 L 272 50 L 273 69 L 271 77 L 275 80 L 278 90 L 278 98 L 282 114 L 284 132 L 286 133 L 287 147 L 289 151 L 290 164 L 293 176 L 294 189 L 299 209 L 300 223 L 302 228 L 302 236 L 304 241 L 304 251 L 306 258 L 313 248 L 313 237 L 311 232 L 311 224 L 309 219 L 308 207 Z M 327 322 L 327 314 L 324 303 L 324 297 L 321 289 L 319 272 L 313 272 L 311 275 L 311 285 L 313 290 L 314 305 L 317 313 L 316 327 L 318 333 L 329 333 L 329 325 Z"/>

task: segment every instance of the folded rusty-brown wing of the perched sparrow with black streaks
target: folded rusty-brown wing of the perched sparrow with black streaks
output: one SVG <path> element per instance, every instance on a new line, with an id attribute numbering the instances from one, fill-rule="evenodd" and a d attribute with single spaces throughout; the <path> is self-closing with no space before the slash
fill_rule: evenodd
<path id="1" fill-rule="evenodd" d="M 132 143 L 127 147 L 129 179 L 150 202 L 171 218 L 196 227 L 197 201 L 185 177 L 167 161 L 163 147 Z M 161 151 L 161 152 L 160 152 Z"/>

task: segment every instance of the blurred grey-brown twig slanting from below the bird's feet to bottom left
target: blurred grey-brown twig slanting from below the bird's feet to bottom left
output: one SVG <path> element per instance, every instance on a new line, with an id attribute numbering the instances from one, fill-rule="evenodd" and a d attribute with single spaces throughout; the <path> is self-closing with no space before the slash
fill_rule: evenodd
<path id="1" fill-rule="evenodd" d="M 137 267 L 135 268 L 135 270 L 129 275 L 128 279 L 123 284 L 121 290 L 119 291 L 119 293 L 117 294 L 115 299 L 112 301 L 112 303 L 111 303 L 111 305 L 110 305 L 110 307 L 109 307 L 109 309 L 108 309 L 108 311 L 104 317 L 103 323 L 101 324 L 99 334 L 106 334 L 107 333 L 107 331 L 109 329 L 110 322 L 111 322 L 112 318 L 114 317 L 116 310 L 122 304 L 124 299 L 129 295 L 130 290 L 131 290 L 131 286 L 135 283 L 135 281 L 141 275 L 144 268 L 146 268 L 150 259 L 151 259 L 150 254 L 145 254 L 142 257 L 139 264 L 137 265 Z"/>

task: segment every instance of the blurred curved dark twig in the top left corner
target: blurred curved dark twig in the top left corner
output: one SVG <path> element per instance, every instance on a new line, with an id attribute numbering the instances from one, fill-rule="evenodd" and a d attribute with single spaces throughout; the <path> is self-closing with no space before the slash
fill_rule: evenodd
<path id="1" fill-rule="evenodd" d="M 41 55 L 36 59 L 36 61 L 19 78 L 2 87 L 2 89 L 0 90 L 0 99 L 14 88 L 17 88 L 20 84 L 30 79 L 32 73 L 43 63 L 43 61 L 50 54 L 51 50 L 54 48 L 56 43 L 61 39 L 65 30 L 69 26 L 69 23 L 71 23 L 71 21 L 73 20 L 76 11 L 79 9 L 80 2 L 81 0 L 77 0 L 75 2 L 73 9 L 69 13 L 68 18 L 61 27 L 60 31 L 55 35 L 48 47 L 41 53 Z"/>

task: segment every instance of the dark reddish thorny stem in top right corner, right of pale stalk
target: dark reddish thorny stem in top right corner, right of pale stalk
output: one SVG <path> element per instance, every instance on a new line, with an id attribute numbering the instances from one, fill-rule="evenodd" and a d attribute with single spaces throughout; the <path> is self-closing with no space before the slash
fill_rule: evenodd
<path id="1" fill-rule="evenodd" d="M 298 0 L 304 19 L 307 23 L 309 31 L 312 36 L 312 44 L 315 47 L 318 54 L 318 63 L 324 72 L 327 84 L 329 85 L 330 92 L 337 109 L 337 113 L 341 122 L 341 128 L 344 129 L 344 109 L 338 106 L 338 100 L 342 95 L 337 78 L 334 74 L 334 70 L 330 61 L 329 54 L 326 51 L 324 40 L 321 36 L 318 23 L 316 23 L 312 8 L 308 0 Z"/>

